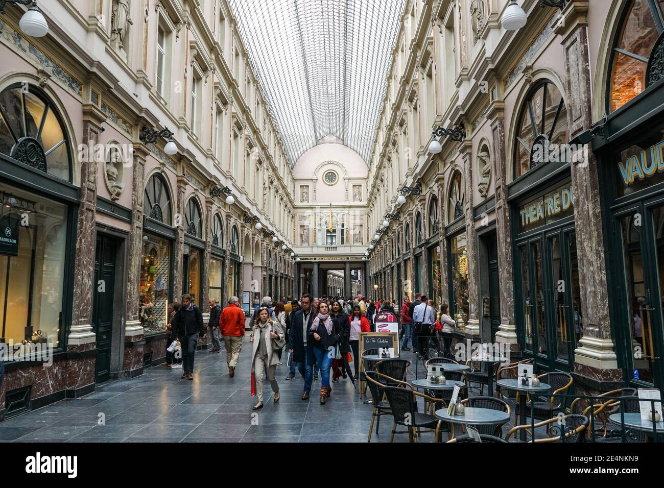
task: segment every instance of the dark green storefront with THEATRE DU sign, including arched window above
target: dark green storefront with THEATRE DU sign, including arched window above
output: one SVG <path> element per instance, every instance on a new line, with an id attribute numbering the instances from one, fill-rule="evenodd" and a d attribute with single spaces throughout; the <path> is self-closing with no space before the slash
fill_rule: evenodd
<path id="1" fill-rule="evenodd" d="M 508 201 L 513 222 L 517 333 L 524 357 L 571 371 L 583 321 L 574 228 L 567 111 L 558 87 L 533 84 L 519 111 Z"/>

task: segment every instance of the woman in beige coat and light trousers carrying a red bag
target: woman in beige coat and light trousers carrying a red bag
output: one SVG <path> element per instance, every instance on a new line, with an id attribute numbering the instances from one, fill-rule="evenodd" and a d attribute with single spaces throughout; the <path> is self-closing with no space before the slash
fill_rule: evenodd
<path id="1" fill-rule="evenodd" d="M 278 321 L 270 318 L 267 307 L 261 307 L 256 313 L 252 334 L 252 368 L 256 380 L 256 395 L 258 403 L 253 410 L 263 408 L 263 370 L 267 371 L 270 386 L 274 392 L 274 402 L 278 402 L 279 384 L 276 380 L 277 363 L 279 363 L 278 351 L 284 347 L 286 331 Z"/>

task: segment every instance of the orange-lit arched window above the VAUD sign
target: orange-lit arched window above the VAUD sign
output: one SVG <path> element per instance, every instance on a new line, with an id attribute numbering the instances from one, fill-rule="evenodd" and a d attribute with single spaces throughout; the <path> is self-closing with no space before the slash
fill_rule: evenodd
<path id="1" fill-rule="evenodd" d="M 608 80 L 608 112 L 613 112 L 664 76 L 661 68 L 664 38 L 664 5 L 661 1 L 632 0 L 614 40 Z M 650 62 L 658 54 L 659 63 Z M 653 56 L 653 60 L 655 56 Z M 655 68 L 655 65 L 659 68 Z"/>

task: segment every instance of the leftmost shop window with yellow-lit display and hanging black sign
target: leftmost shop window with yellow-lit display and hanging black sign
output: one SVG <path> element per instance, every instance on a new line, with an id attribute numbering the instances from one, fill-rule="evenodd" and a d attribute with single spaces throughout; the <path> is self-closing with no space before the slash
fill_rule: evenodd
<path id="1" fill-rule="evenodd" d="M 0 337 L 17 355 L 31 343 L 58 347 L 67 208 L 3 184 L 0 199 Z"/>

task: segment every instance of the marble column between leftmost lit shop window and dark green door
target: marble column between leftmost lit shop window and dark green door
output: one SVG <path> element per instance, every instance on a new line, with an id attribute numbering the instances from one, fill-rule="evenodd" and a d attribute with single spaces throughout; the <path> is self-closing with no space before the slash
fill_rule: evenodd
<path id="1" fill-rule="evenodd" d="M 102 123 L 106 115 L 92 104 L 83 106 L 82 143 L 90 150 L 87 161 L 80 161 L 80 206 L 76 225 L 76 258 L 74 259 L 74 301 L 72 323 L 68 331 L 68 351 L 95 349 L 96 335 L 92 329 L 92 293 L 94 280 L 94 254 L 96 250 L 96 208 L 98 165 L 94 147 L 99 143 Z M 94 367 L 93 372 L 94 374 Z M 94 377 L 91 378 L 94 382 Z"/>

